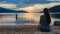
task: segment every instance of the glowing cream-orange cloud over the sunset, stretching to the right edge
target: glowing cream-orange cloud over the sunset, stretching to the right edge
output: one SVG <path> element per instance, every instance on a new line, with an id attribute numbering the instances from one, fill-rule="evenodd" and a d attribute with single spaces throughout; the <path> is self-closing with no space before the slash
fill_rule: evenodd
<path id="1" fill-rule="evenodd" d="M 29 6 L 29 7 L 23 7 L 23 8 L 18 8 L 17 10 L 25 10 L 29 13 L 31 12 L 40 12 L 42 11 L 44 8 L 50 8 L 56 5 L 60 5 L 60 2 L 52 2 L 50 4 L 33 4 L 33 6 Z"/>

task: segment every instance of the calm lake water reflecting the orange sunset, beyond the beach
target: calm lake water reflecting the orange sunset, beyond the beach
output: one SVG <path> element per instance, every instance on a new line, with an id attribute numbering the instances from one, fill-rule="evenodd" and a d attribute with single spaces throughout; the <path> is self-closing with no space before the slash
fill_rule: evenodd
<path id="1" fill-rule="evenodd" d="M 1 14 L 2 15 L 2 14 Z M 16 20 L 16 14 L 3 14 L 2 17 L 0 17 L 0 24 L 1 25 L 37 25 L 40 21 L 40 16 L 44 15 L 43 13 L 18 13 L 17 14 L 17 20 Z M 55 18 L 58 17 L 60 14 L 52 14 L 50 15 L 52 19 L 52 22 L 55 20 Z M 2 20 L 1 20 L 2 18 Z"/>

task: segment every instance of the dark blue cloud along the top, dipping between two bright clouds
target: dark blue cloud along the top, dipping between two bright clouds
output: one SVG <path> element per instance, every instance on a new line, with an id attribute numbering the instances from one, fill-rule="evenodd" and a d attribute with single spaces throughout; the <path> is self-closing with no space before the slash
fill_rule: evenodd
<path id="1" fill-rule="evenodd" d="M 48 4 L 47 0 L 0 0 L 0 3 L 16 4 L 16 8 L 33 4 Z"/>

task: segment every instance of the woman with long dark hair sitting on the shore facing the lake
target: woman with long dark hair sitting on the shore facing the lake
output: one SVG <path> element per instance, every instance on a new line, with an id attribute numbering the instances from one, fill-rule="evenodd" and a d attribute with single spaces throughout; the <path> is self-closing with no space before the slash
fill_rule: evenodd
<path id="1" fill-rule="evenodd" d="M 50 15 L 47 8 L 44 8 L 43 11 L 44 11 L 44 15 L 42 15 L 40 18 L 38 28 L 42 32 L 49 32 L 50 31 L 49 24 L 51 22 Z"/>

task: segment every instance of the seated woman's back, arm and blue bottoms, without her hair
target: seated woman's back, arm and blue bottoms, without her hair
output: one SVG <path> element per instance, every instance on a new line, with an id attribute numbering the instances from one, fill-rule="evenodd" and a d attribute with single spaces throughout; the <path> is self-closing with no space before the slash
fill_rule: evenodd
<path id="1" fill-rule="evenodd" d="M 47 21 L 48 20 L 46 19 L 46 17 L 44 15 L 41 16 L 40 23 L 38 25 L 38 29 L 41 32 L 49 32 L 50 31 L 50 26 L 48 25 Z"/>

